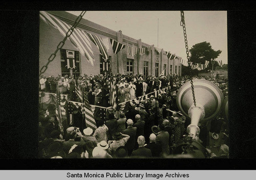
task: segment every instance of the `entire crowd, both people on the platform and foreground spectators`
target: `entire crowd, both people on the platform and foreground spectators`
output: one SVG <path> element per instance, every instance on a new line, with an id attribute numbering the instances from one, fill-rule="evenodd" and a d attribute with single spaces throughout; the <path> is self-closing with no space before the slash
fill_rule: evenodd
<path id="1" fill-rule="evenodd" d="M 141 100 L 139 109 L 131 105 L 127 112 L 120 111 L 97 121 L 97 129 L 86 127 L 83 130 L 70 126 L 61 132 L 56 119 L 54 105 L 39 113 L 39 158 L 198 158 L 185 152 L 174 155 L 177 143 L 186 135 L 190 120 L 179 113 L 176 94 L 179 88 L 190 81 L 189 76 L 155 76 L 115 74 L 118 102 L 154 92 L 164 87 L 158 96 L 151 95 Z M 193 79 L 200 79 L 195 76 Z M 204 78 L 217 83 L 209 77 Z M 42 76 L 40 91 L 56 93 L 58 84 L 62 94 L 79 101 L 75 86 L 85 87 L 91 105 L 109 107 L 110 76 L 84 74 L 57 78 Z M 216 84 L 227 95 L 227 83 Z M 62 87 L 63 86 L 63 87 Z M 61 88 L 62 87 L 62 88 Z M 90 98 L 91 95 L 91 98 Z M 207 149 L 211 158 L 228 157 L 228 123 L 220 115 L 211 121 L 199 124 L 199 141 L 206 147 L 215 146 L 219 155 Z M 219 140 L 215 139 L 216 134 Z M 214 140 L 212 144 L 210 139 Z M 223 142 L 223 140 L 225 140 Z M 218 142 L 217 142 L 218 141 Z"/>

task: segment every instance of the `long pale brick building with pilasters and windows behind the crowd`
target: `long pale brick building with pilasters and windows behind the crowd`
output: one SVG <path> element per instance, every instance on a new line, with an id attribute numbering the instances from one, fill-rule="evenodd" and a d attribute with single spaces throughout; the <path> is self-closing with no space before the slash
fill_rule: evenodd
<path id="1" fill-rule="evenodd" d="M 73 25 L 77 16 L 70 14 L 65 11 L 47 11 L 48 13 L 54 15 L 58 19 Z M 125 45 L 125 48 L 121 49 L 119 53 L 114 54 L 112 46 L 109 42 L 108 55 L 111 60 L 110 66 L 113 73 L 121 74 L 145 74 L 145 75 L 160 75 L 163 69 L 165 70 L 165 75 L 178 74 L 181 75 L 181 63 L 179 59 L 168 60 L 165 50 L 160 49 L 160 53 L 155 50 L 154 45 L 146 44 L 141 41 L 141 39 L 136 40 L 132 37 L 122 34 L 122 31 L 113 31 L 111 29 L 105 28 L 99 24 L 91 22 L 86 19 L 81 19 L 77 28 L 84 30 L 93 35 L 97 35 L 101 38 L 111 38 L 119 43 Z M 63 36 L 60 32 L 47 24 L 44 20 L 40 18 L 40 28 L 39 28 L 39 69 L 44 66 L 48 58 L 56 50 L 60 41 L 63 40 Z M 93 42 L 91 42 L 92 50 L 94 54 L 93 65 L 89 63 L 86 57 L 81 56 L 79 49 L 72 44 L 72 42 L 67 39 L 65 45 L 62 49 L 57 52 L 54 61 L 50 62 L 44 75 L 54 75 L 61 73 L 64 74 L 103 74 L 102 68 L 102 56 L 100 55 L 99 49 Z M 136 54 L 134 57 L 127 54 L 126 47 L 132 46 L 137 48 L 147 48 L 152 46 L 151 52 L 147 52 L 143 55 Z M 68 69 L 66 67 L 65 61 L 62 58 L 61 53 L 63 50 L 74 50 L 76 59 L 74 69 Z M 168 51 L 168 49 L 166 49 Z M 174 53 L 174 52 L 172 52 Z M 118 67 L 118 68 L 117 68 Z"/>

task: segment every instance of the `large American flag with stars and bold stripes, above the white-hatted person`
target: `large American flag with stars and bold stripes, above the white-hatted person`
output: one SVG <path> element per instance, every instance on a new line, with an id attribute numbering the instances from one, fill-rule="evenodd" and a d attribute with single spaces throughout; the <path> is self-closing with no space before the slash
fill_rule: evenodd
<path id="1" fill-rule="evenodd" d="M 86 126 L 91 127 L 93 131 L 95 131 L 97 125 L 93 116 L 92 107 L 85 91 L 83 93 L 82 114 L 86 116 Z"/>

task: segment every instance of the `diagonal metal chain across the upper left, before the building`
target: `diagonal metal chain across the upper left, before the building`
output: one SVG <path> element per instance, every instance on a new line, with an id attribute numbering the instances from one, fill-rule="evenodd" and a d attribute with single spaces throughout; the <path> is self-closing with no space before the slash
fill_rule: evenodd
<path id="1" fill-rule="evenodd" d="M 72 25 L 72 27 L 69 29 L 69 31 L 66 33 L 65 38 L 59 42 L 57 49 L 55 50 L 55 52 L 53 54 L 51 54 L 51 56 L 48 59 L 48 62 L 46 63 L 46 65 L 42 66 L 42 68 L 40 69 L 40 73 L 39 73 L 39 77 L 42 73 L 44 73 L 46 71 L 46 69 L 48 68 L 48 64 L 50 62 L 52 62 L 54 60 L 54 58 L 56 57 L 56 53 L 58 52 L 59 49 L 61 49 L 63 47 L 63 45 L 65 44 L 65 41 L 68 39 L 68 37 L 70 37 L 70 35 L 73 33 L 76 25 L 80 22 L 80 20 L 82 19 L 82 16 L 86 13 L 86 11 L 82 11 L 81 14 L 76 18 L 74 24 Z"/>

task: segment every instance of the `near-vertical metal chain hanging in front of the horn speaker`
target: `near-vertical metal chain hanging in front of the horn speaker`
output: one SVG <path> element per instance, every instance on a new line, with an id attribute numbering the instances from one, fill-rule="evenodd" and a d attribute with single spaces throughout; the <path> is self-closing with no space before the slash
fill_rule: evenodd
<path id="1" fill-rule="evenodd" d="M 183 27 L 183 34 L 184 34 L 186 54 L 187 54 L 187 63 L 188 63 L 189 73 L 190 73 L 191 90 L 192 90 L 192 94 L 193 94 L 194 105 L 197 106 L 195 91 L 194 91 L 194 85 L 193 85 L 193 78 L 192 78 L 192 74 L 191 74 L 191 66 L 190 66 L 190 63 L 189 63 L 190 62 L 190 57 L 189 57 L 189 51 L 188 51 L 188 45 L 187 45 L 187 34 L 186 34 L 186 26 L 185 26 L 185 19 L 184 19 L 184 11 L 180 11 L 180 16 L 181 16 L 180 25 Z"/>

